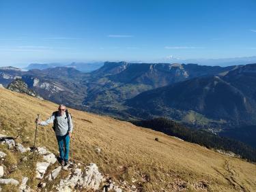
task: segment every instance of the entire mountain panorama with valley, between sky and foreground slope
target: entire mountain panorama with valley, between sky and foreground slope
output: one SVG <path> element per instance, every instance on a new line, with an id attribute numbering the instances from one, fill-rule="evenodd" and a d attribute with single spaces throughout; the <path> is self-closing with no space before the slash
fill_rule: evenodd
<path id="1" fill-rule="evenodd" d="M 126 120 L 166 116 L 216 133 L 256 125 L 255 71 L 256 64 L 105 62 L 89 73 L 75 67 L 1 67 L 0 84 L 22 78 L 44 99 L 72 108 Z"/>

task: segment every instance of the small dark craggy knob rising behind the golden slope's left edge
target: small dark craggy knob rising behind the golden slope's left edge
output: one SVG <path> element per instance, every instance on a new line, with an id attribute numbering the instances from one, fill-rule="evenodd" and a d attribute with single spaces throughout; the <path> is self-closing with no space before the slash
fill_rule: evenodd
<path id="1" fill-rule="evenodd" d="M 7 89 L 10 89 L 11 91 L 16 91 L 18 93 L 25 93 L 27 95 L 36 97 L 38 99 L 43 99 L 42 97 L 40 97 L 40 95 L 35 93 L 35 91 L 29 89 L 27 84 L 25 82 L 23 82 L 23 80 L 20 80 L 18 78 L 16 80 L 14 80 L 13 82 L 11 82 L 8 85 Z"/>

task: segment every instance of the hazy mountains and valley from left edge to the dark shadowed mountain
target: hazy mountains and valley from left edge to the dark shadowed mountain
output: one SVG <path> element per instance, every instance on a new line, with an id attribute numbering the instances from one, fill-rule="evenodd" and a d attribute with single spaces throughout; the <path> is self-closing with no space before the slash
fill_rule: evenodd
<path id="1" fill-rule="evenodd" d="M 100 69 L 87 74 L 74 67 L 29 71 L 1 69 L 0 82 L 7 86 L 15 78 L 22 78 L 30 89 L 44 99 L 94 112 L 112 113 L 113 110 L 115 114 L 119 108 L 126 108 L 123 103 L 127 99 L 144 91 L 201 76 L 223 76 L 237 67 L 239 66 L 106 62 Z"/>

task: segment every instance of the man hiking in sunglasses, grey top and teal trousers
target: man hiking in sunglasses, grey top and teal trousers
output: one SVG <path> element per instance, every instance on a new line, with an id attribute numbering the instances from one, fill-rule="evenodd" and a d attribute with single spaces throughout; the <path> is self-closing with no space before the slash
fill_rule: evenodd
<path id="1" fill-rule="evenodd" d="M 70 150 L 70 138 L 72 135 L 73 124 L 70 114 L 66 113 L 66 106 L 59 105 L 58 111 L 53 112 L 52 116 L 46 121 L 36 120 L 38 125 L 46 126 L 53 123 L 53 129 L 59 146 L 59 162 L 61 165 L 68 165 L 68 154 Z"/>

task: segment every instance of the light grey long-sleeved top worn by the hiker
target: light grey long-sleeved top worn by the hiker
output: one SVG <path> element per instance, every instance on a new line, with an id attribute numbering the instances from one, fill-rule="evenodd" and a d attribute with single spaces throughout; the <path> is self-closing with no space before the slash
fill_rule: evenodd
<path id="1" fill-rule="evenodd" d="M 73 123 L 72 123 L 72 118 L 69 115 L 69 118 L 70 118 L 70 132 L 73 131 Z M 55 116 L 54 114 L 48 118 L 46 121 L 41 121 L 39 123 L 39 125 L 42 125 L 42 126 L 46 126 L 50 123 L 53 123 L 55 120 Z M 55 134 L 56 135 L 66 135 L 66 133 L 68 133 L 68 118 L 66 116 L 66 113 L 64 113 L 62 116 L 60 116 L 59 113 L 57 113 L 57 127 L 55 129 Z"/>

